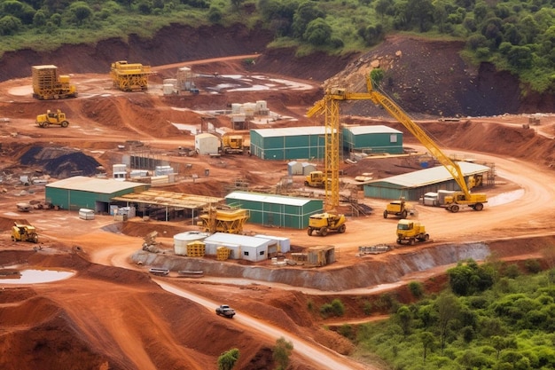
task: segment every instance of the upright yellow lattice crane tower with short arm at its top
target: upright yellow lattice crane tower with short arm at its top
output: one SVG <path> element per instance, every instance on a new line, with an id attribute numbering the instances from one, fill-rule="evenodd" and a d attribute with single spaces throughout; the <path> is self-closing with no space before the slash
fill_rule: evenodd
<path id="1" fill-rule="evenodd" d="M 371 91 L 371 85 L 369 90 Z M 317 101 L 307 112 L 308 117 L 324 113 L 324 186 L 325 209 L 330 210 L 340 205 L 340 101 L 373 100 L 368 92 L 351 92 L 332 87 L 325 91 L 324 98 Z"/>

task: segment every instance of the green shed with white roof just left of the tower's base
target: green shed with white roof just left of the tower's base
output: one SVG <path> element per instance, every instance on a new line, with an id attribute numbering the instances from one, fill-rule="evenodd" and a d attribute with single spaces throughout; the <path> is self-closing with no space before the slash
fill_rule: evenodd
<path id="1" fill-rule="evenodd" d="M 248 209 L 249 222 L 277 227 L 304 229 L 309 217 L 324 212 L 324 201 L 265 193 L 232 192 L 225 196 L 228 205 Z"/>

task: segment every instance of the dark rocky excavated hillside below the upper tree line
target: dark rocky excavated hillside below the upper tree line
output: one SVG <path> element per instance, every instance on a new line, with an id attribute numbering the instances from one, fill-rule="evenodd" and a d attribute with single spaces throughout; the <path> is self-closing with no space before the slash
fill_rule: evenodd
<path id="1" fill-rule="evenodd" d="M 555 96 L 521 94 L 519 82 L 491 65 L 469 66 L 459 56 L 462 42 L 431 42 L 394 35 L 366 53 L 332 57 L 317 53 L 297 58 L 292 49 L 267 49 L 271 35 L 262 29 L 220 26 L 164 28 L 154 38 L 130 36 L 96 44 L 66 45 L 58 51 L 8 52 L 0 59 L 0 81 L 27 77 L 33 65 L 54 64 L 63 73 L 108 73 L 110 63 L 126 59 L 160 66 L 195 59 L 258 53 L 254 73 L 312 79 L 324 86 L 364 91 L 364 74 L 386 71 L 382 88 L 410 114 L 418 116 L 484 116 L 553 112 Z M 345 114 L 379 115 L 362 102 L 344 106 Z"/>

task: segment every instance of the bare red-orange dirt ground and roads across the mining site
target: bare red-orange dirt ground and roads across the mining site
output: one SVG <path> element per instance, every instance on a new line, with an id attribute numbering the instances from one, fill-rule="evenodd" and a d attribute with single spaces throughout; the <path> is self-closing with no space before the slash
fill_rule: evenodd
<path id="1" fill-rule="evenodd" d="M 205 61 L 195 66 L 199 72 L 247 75 L 250 72 L 243 60 Z M 165 71 L 171 75 L 172 68 L 175 66 L 157 67 L 159 75 L 152 83 L 160 83 Z M 277 76 L 278 68 L 269 72 Z M 297 80 L 302 76 L 279 77 Z M 442 272 L 448 266 L 409 274 L 386 290 L 379 290 L 369 282 L 364 289 L 344 292 L 304 288 L 302 272 L 337 273 L 345 281 L 356 281 L 356 267 L 371 267 L 378 284 L 391 283 L 388 275 L 399 267 L 395 265 L 398 261 L 395 258 L 416 253 L 434 256 L 436 248 L 442 245 L 465 241 L 486 241 L 495 258 L 538 258 L 544 266 L 553 265 L 555 236 L 551 219 L 545 216 L 544 205 L 555 200 L 551 185 L 555 179 L 555 117 L 542 115 L 541 125 L 524 129 L 522 125 L 528 123 L 528 115 L 503 115 L 460 122 L 421 122 L 442 147 L 449 148 L 447 152 L 496 162 L 498 184 L 495 189 L 485 189 L 489 196 L 511 193 L 515 189 L 525 193 L 506 204 L 476 213 L 451 215 L 442 209 L 418 208 L 418 218 L 426 222 L 433 238 L 429 244 L 397 248 L 379 256 L 357 256 L 357 248 L 367 245 L 369 240 L 389 243 L 395 238 L 392 237 L 395 221 L 384 220 L 379 212 L 349 218 L 348 232 L 344 236 L 329 235 L 325 240 L 309 237 L 304 231 L 247 224 L 249 233 L 291 238 L 295 250 L 321 243 L 332 244 L 336 247 L 338 261 L 317 271 L 292 267 L 294 281 L 288 286 L 249 279 L 207 277 L 195 280 L 173 275 L 153 279 L 147 273 L 148 266 L 137 265 L 131 260 L 141 249 L 145 234 L 159 232 L 160 248 L 171 255 L 172 235 L 197 230 L 195 226 L 184 222 L 143 220 L 120 224 L 114 222 L 113 217 L 102 215 L 85 222 L 78 219 L 75 212 L 41 209 L 18 213 L 17 202 L 44 201 L 43 188 L 25 187 L 14 180 L 23 172 L 42 170 L 36 165 L 21 164 L 21 155 L 34 146 L 60 150 L 79 148 L 106 169 L 111 169 L 114 163 L 121 161 L 117 146 L 133 139 L 171 158 L 176 165 L 191 164 L 190 174 L 202 174 L 210 169 L 209 177 L 200 176 L 194 183 L 184 179 L 165 190 L 223 196 L 226 185 L 237 177 L 246 177 L 254 188 L 269 188 L 285 176 L 285 162 L 260 161 L 246 155 L 217 160 L 202 156 L 180 157 L 176 148 L 193 146 L 193 137 L 177 130 L 170 122 L 199 124 L 204 114 L 196 110 L 222 109 L 234 102 L 263 99 L 271 110 L 297 120 L 277 122 L 271 127 L 321 124 L 321 119 L 308 120 L 304 113 L 322 97 L 322 90 L 314 80 L 301 79 L 302 83 L 313 86 L 312 90 L 275 89 L 163 97 L 113 91 L 108 76 L 101 73 L 75 74 L 72 80 L 79 86 L 80 97 L 55 104 L 20 94 L 19 89 L 29 86 L 28 78 L 0 83 L 0 115 L 9 118 L 8 122 L 0 124 L 4 178 L 0 197 L 3 209 L 0 230 L 4 231 L 0 240 L 0 267 L 75 272 L 70 279 L 44 284 L 11 286 L 0 282 L 0 366 L 4 369 L 215 369 L 218 356 L 231 348 L 240 351 L 238 369 L 274 368 L 277 364 L 272 359 L 272 348 L 277 336 L 269 334 L 262 325 L 269 325 L 295 342 L 290 369 L 326 367 L 318 360 L 328 361 L 329 368 L 334 364 L 330 361 L 337 361 L 338 366 L 346 369 L 384 368 L 375 360 L 348 357 L 353 354 L 354 345 L 324 326 L 381 318 L 387 311 L 372 303 L 387 289 L 400 302 L 409 303 L 412 298 L 404 285 L 411 279 L 424 281 L 429 292 L 437 291 L 443 287 Z M 176 109 L 184 107 L 188 109 Z M 71 117 L 70 126 L 67 129 L 36 128 L 35 115 L 49 108 L 64 111 Z M 218 127 L 231 127 L 231 122 L 223 118 L 215 121 Z M 385 118 L 369 120 L 352 114 L 346 117 L 346 122 L 387 124 L 405 131 L 407 146 L 419 146 L 401 125 Z M 341 166 L 350 177 L 372 172 L 373 177 L 379 178 L 406 171 L 403 163 L 395 159 L 361 161 L 357 165 L 342 163 Z M 295 179 L 295 183 L 301 180 Z M 301 184 L 296 185 L 302 188 Z M 380 200 L 363 201 L 374 209 L 382 209 L 385 205 Z M 14 221 L 37 226 L 39 245 L 12 242 L 9 230 Z M 229 263 L 230 269 L 244 264 Z M 433 276 L 434 279 L 430 279 Z M 160 288 L 160 280 L 182 289 L 189 296 L 168 293 Z M 345 315 L 340 320 L 323 319 L 319 307 L 331 303 L 334 298 L 340 298 L 345 304 Z M 207 303 L 202 303 L 205 301 Z M 230 303 L 238 311 L 236 318 L 216 317 L 214 308 L 220 303 Z M 373 307 L 370 314 L 364 310 L 369 306 Z M 338 366 L 335 368 L 340 368 Z"/>

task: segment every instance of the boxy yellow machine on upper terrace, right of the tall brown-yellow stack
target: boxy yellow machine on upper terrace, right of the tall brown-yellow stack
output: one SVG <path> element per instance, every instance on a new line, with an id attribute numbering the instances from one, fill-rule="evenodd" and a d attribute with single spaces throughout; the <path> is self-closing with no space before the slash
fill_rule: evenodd
<path id="1" fill-rule="evenodd" d="M 113 87 L 121 91 L 145 91 L 148 89 L 148 76 L 152 75 L 150 66 L 128 63 L 120 60 L 112 63 L 110 75 Z"/>

